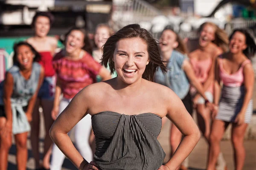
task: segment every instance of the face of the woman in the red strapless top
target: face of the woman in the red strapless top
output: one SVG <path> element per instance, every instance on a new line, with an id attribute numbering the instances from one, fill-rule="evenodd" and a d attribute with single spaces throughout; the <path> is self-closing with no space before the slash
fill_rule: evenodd
<path id="1" fill-rule="evenodd" d="M 50 20 L 48 17 L 39 16 L 35 21 L 35 34 L 39 37 L 46 37 L 50 30 Z"/>

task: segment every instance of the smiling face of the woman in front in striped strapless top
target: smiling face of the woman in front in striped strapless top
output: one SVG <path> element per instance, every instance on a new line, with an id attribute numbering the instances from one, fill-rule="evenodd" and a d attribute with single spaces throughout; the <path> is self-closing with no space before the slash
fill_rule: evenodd
<path id="1" fill-rule="evenodd" d="M 113 61 L 118 77 L 131 85 L 142 78 L 148 65 L 148 45 L 137 37 L 119 40 Z"/>

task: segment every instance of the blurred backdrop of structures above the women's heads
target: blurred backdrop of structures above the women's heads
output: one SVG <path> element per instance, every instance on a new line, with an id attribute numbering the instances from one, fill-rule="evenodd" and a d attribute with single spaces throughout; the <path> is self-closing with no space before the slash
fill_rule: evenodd
<path id="1" fill-rule="evenodd" d="M 14 41 L 32 36 L 30 24 L 37 10 L 55 16 L 49 34 L 57 37 L 74 25 L 86 27 L 93 36 L 99 23 L 108 23 L 114 31 L 139 23 L 156 39 L 166 25 L 172 25 L 193 42 L 206 21 L 227 34 L 234 28 L 249 28 L 256 34 L 255 0 L 0 0 L 0 48 L 8 53 L 6 57 Z M 8 60 L 6 68 L 12 65 Z"/>

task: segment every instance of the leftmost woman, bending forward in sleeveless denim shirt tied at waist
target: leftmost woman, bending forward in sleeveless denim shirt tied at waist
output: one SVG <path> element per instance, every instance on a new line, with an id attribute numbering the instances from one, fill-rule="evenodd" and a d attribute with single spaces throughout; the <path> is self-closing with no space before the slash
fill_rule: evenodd
<path id="1" fill-rule="evenodd" d="M 26 169 L 29 122 L 44 79 L 44 68 L 36 62 L 38 59 L 40 55 L 29 43 L 15 44 L 14 65 L 6 72 L 0 89 L 0 170 L 7 170 L 12 134 L 17 147 L 17 169 Z"/>

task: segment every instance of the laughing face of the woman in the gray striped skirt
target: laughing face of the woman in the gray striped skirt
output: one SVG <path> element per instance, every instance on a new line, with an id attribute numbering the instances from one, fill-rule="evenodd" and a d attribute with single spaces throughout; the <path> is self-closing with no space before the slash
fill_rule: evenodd
<path id="1" fill-rule="evenodd" d="M 243 52 L 247 48 L 245 35 L 239 31 L 236 31 L 230 40 L 229 48 L 230 52 L 233 54 Z"/>

